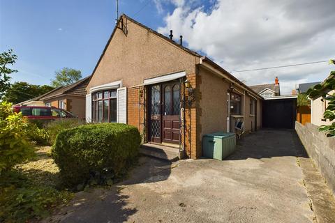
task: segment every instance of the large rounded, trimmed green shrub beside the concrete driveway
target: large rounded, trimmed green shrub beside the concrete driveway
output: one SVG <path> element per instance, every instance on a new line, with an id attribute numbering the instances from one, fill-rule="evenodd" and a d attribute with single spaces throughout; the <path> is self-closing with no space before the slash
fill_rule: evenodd
<path id="1" fill-rule="evenodd" d="M 131 125 L 82 125 L 59 132 L 52 155 L 64 186 L 80 190 L 121 178 L 135 161 L 140 142 L 140 132 Z"/>

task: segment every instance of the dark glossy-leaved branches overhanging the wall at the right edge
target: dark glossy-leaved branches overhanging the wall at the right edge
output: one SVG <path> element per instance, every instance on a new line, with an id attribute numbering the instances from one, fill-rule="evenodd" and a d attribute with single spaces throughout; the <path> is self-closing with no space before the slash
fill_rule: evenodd
<path id="1" fill-rule="evenodd" d="M 335 60 L 330 60 L 329 64 L 331 63 L 335 64 Z M 307 91 L 309 98 L 315 98 L 321 95 L 323 100 L 328 101 L 328 106 L 323 113 L 323 117 L 329 119 L 329 121 L 333 121 L 335 119 L 335 93 L 332 95 L 329 93 L 332 90 L 335 90 L 335 70 L 330 72 L 330 75 L 325 82 L 317 84 Z M 335 121 L 330 125 L 321 125 L 319 130 L 325 131 L 327 137 L 335 137 Z"/>

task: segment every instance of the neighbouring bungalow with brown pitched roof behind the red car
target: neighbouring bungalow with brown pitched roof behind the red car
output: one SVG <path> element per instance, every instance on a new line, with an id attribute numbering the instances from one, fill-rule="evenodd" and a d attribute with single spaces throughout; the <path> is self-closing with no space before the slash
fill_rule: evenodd
<path id="1" fill-rule="evenodd" d="M 65 109 L 78 118 L 85 118 L 85 95 L 89 77 L 68 86 L 61 86 L 31 100 L 21 102 L 17 105 L 29 106 L 52 106 Z"/>

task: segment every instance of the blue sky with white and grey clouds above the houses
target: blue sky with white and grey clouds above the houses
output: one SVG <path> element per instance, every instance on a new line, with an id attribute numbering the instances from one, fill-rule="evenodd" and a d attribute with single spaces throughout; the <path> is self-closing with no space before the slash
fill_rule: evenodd
<path id="1" fill-rule="evenodd" d="M 0 0 L 0 52 L 13 49 L 12 82 L 50 84 L 64 67 L 90 75 L 115 25 L 115 0 Z M 119 0 L 119 12 L 213 59 L 247 85 L 274 82 L 281 93 L 319 82 L 334 69 L 334 0 Z"/>

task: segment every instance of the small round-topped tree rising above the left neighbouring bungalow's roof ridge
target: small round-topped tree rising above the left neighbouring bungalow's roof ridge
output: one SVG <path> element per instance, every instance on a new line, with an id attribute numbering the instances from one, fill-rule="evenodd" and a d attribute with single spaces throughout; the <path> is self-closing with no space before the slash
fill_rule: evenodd
<path id="1" fill-rule="evenodd" d="M 52 80 L 51 85 L 56 88 L 79 81 L 82 78 L 82 72 L 72 68 L 63 68 L 61 70 L 57 70 L 54 73 L 54 76 L 55 77 Z"/>

